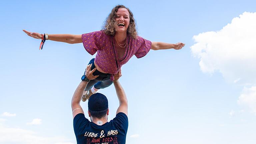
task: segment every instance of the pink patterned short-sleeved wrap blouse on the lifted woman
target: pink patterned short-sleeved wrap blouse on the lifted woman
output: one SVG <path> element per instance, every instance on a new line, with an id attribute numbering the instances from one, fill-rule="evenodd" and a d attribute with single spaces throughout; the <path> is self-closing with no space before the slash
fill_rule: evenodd
<path id="1" fill-rule="evenodd" d="M 96 52 L 95 63 L 107 73 L 116 74 L 122 65 L 126 64 L 128 60 L 135 55 L 137 58 L 144 57 L 151 48 L 151 41 L 143 39 L 138 36 L 133 39 L 127 36 L 126 50 L 122 58 L 118 57 L 115 47 L 115 37 L 106 35 L 104 31 L 96 31 L 87 34 L 82 34 L 82 41 L 86 51 L 94 55 Z"/>

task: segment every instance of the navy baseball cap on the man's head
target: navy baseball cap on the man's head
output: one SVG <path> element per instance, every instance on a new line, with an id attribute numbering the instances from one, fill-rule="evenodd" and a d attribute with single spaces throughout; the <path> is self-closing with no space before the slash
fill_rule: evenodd
<path id="1" fill-rule="evenodd" d="M 88 109 L 91 111 L 102 111 L 108 108 L 108 99 L 101 93 L 91 95 L 88 100 Z"/>

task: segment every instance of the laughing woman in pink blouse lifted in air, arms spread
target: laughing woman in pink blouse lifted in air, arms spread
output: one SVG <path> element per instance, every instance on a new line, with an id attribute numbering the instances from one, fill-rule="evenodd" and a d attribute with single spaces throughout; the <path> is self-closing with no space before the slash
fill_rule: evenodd
<path id="1" fill-rule="evenodd" d="M 122 65 L 135 55 L 137 58 L 145 56 L 150 49 L 176 49 L 184 47 L 184 43 L 151 42 L 137 35 L 136 24 L 132 12 L 124 5 L 115 6 L 108 15 L 104 28 L 82 35 L 72 34 L 39 34 L 23 30 L 27 35 L 45 40 L 66 42 L 70 44 L 83 43 L 85 50 L 96 57 L 90 60 L 92 69 L 97 70 L 93 75 L 99 75 L 90 80 L 85 88 L 82 101 L 96 93 L 97 90 L 110 86 L 114 75 L 121 70 Z M 40 45 L 42 48 L 42 46 Z M 83 77 L 84 78 L 84 77 Z"/>

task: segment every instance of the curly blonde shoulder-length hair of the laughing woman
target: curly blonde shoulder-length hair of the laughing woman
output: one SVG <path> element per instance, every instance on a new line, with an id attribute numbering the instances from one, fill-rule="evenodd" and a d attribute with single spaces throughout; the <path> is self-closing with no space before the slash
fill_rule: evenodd
<path id="1" fill-rule="evenodd" d="M 132 12 L 129 10 L 129 8 L 125 7 L 124 5 L 117 5 L 115 6 L 112 10 L 111 13 L 108 15 L 106 18 L 106 21 L 104 22 L 102 30 L 107 34 L 107 35 L 115 35 L 116 29 L 115 29 L 115 18 L 116 18 L 116 12 L 119 8 L 126 8 L 129 12 L 129 17 L 130 17 L 130 22 L 129 26 L 127 28 L 127 34 L 129 34 L 132 38 L 136 39 L 138 34 L 136 30 L 136 23 L 133 18 Z"/>

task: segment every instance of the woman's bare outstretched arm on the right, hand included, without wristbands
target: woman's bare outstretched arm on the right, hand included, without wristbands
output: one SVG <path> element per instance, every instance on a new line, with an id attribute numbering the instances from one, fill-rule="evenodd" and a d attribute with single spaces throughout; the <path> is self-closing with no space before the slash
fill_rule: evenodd
<path id="1" fill-rule="evenodd" d="M 182 47 L 184 47 L 184 43 L 176 43 L 176 44 L 170 44 L 170 43 L 163 43 L 163 42 L 152 42 L 151 49 L 152 50 L 162 50 L 162 49 L 176 49 L 179 50 Z"/>

